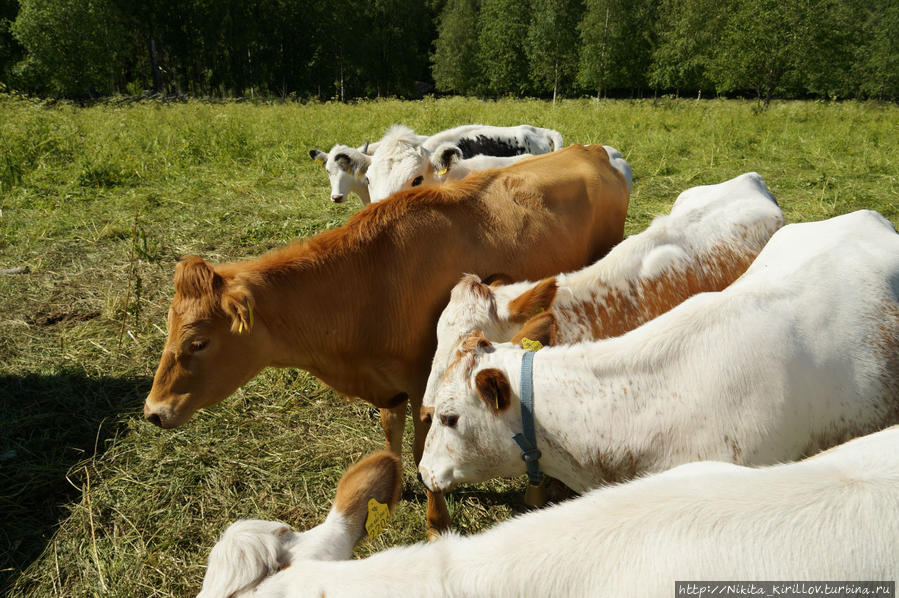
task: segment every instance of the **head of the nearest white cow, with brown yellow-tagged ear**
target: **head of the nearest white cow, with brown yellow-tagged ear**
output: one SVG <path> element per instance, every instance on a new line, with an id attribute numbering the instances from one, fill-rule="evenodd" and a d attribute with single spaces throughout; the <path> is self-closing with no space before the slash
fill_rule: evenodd
<path id="1" fill-rule="evenodd" d="M 327 519 L 309 531 L 297 533 L 284 523 L 258 519 L 232 524 L 209 553 L 209 566 L 198 598 L 253 594 L 266 576 L 297 560 L 350 558 L 356 542 L 365 535 L 369 499 L 393 511 L 401 487 L 399 457 L 376 453 L 344 474 Z"/>

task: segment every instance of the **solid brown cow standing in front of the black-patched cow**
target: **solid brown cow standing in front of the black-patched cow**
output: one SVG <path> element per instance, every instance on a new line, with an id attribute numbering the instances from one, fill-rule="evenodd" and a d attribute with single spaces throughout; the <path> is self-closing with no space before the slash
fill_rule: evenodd
<path id="1" fill-rule="evenodd" d="M 397 193 L 256 260 L 185 259 L 144 414 L 173 428 L 266 366 L 297 367 L 381 408 L 395 454 L 410 399 L 417 463 L 435 325 L 460 275 L 521 280 L 580 268 L 621 240 L 627 205 L 627 182 L 605 149 L 576 145 Z M 429 494 L 430 530 L 448 524 L 443 497 Z"/>

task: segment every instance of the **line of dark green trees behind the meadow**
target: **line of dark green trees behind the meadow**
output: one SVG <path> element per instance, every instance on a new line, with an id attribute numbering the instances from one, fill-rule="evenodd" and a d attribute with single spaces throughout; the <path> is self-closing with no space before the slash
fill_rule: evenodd
<path id="1" fill-rule="evenodd" d="M 0 0 L 0 81 L 56 97 L 899 99 L 895 0 Z"/>

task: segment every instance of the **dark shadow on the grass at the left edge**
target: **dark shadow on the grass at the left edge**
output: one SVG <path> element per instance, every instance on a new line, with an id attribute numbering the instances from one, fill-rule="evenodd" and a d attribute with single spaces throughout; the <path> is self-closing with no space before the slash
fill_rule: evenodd
<path id="1" fill-rule="evenodd" d="M 105 451 L 125 426 L 120 416 L 138 409 L 151 382 L 77 371 L 0 375 L 0 590 L 41 553 L 66 504 L 79 499 L 66 474 Z"/>

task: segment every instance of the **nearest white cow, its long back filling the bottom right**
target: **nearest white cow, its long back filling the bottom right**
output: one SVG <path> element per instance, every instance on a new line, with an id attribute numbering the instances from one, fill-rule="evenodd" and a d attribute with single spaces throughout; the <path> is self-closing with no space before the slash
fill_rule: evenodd
<path id="1" fill-rule="evenodd" d="M 446 534 L 362 560 L 327 561 L 323 548 L 321 559 L 306 552 L 286 568 L 276 558 L 247 563 L 243 546 L 270 540 L 225 532 L 213 553 L 234 555 L 230 567 L 210 556 L 201 597 L 249 594 L 247 585 L 217 583 L 248 564 L 243 577 L 260 580 L 257 598 L 669 598 L 679 580 L 893 580 L 897 502 L 893 427 L 799 463 L 681 465 L 474 536 Z M 345 534 L 341 546 L 361 535 Z"/>

